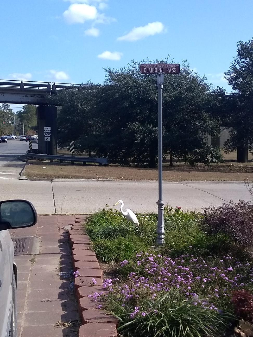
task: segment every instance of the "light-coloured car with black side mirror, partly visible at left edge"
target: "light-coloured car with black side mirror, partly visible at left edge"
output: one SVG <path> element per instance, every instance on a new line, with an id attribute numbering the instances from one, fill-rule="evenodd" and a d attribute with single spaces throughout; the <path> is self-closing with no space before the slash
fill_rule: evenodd
<path id="1" fill-rule="evenodd" d="M 0 202 L 0 337 L 17 337 L 17 265 L 8 229 L 33 226 L 37 213 L 26 200 Z"/>

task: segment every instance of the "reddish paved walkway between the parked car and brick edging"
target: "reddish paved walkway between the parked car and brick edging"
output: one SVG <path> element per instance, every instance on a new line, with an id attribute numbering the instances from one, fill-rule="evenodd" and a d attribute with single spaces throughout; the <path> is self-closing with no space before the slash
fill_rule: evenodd
<path id="1" fill-rule="evenodd" d="M 15 256 L 19 337 L 78 336 L 77 303 L 66 278 L 72 270 L 71 251 L 62 228 L 74 221 L 74 216 L 40 216 L 35 226 L 11 231 L 12 237 L 39 238 L 34 254 Z M 69 321 L 73 326 L 62 327 Z"/>

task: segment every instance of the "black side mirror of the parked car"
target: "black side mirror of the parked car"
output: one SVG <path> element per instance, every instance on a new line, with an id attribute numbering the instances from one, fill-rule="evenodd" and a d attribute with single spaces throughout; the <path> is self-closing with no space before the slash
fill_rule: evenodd
<path id="1" fill-rule="evenodd" d="M 27 200 L 5 200 L 0 202 L 0 231 L 10 228 L 33 226 L 37 213 Z"/>

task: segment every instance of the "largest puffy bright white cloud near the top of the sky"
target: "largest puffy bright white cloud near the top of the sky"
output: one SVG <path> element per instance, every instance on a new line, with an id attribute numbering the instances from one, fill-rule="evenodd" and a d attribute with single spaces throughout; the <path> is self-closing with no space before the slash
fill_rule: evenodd
<path id="1" fill-rule="evenodd" d="M 86 20 L 94 20 L 97 17 L 97 9 L 85 3 L 73 3 L 63 13 L 67 23 L 84 23 Z"/>

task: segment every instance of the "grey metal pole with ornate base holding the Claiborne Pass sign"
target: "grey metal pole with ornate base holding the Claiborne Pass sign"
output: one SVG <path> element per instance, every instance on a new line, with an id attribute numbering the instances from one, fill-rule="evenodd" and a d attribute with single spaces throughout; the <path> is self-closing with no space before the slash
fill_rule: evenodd
<path id="1" fill-rule="evenodd" d="M 159 246 L 164 244 L 165 233 L 163 219 L 163 82 L 164 74 L 158 75 L 158 223 L 156 243 Z"/>

